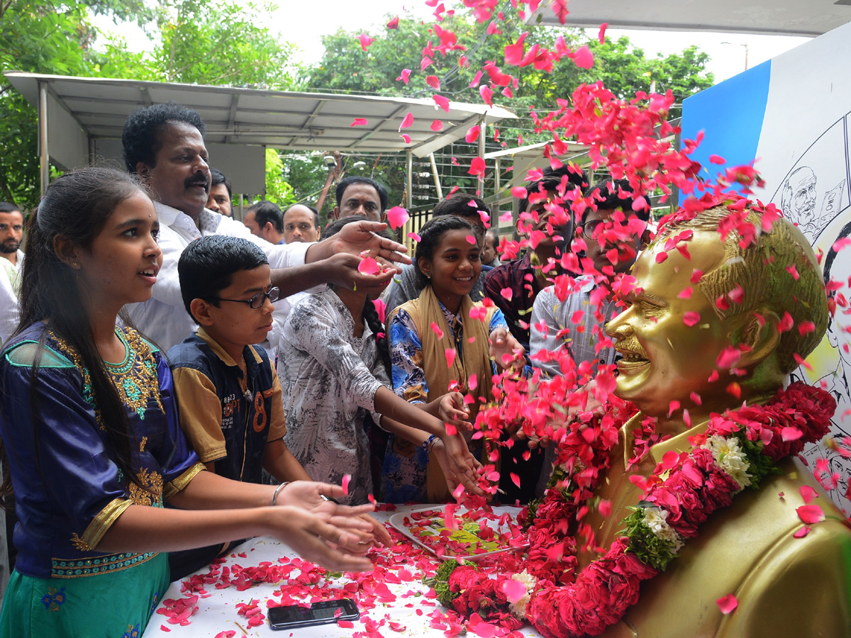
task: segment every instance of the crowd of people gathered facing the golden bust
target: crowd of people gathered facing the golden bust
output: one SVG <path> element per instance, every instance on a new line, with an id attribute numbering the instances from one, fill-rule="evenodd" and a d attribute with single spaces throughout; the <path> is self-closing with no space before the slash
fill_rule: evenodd
<path id="1" fill-rule="evenodd" d="M 254 535 L 368 570 L 366 551 L 391 542 L 370 501 L 483 494 L 494 454 L 500 498 L 526 503 L 553 459 L 522 436 L 497 448 L 472 436 L 494 374 L 558 375 L 563 352 L 586 369 L 614 362 L 611 282 L 648 240 L 649 210 L 625 181 L 545 169 L 520 202 L 517 255 L 487 203 L 455 192 L 408 259 L 373 179 L 340 181 L 325 228 L 306 203 L 233 219 L 203 135 L 186 107 L 134 111 L 126 171 L 55 179 L 26 253 L 24 215 L 0 203 L 17 552 L 3 635 L 66 635 L 84 617 L 140 632 L 169 581 Z M 591 202 L 581 219 L 571 197 Z M 365 255 L 378 272 L 359 268 Z M 566 296 L 558 274 L 576 276 Z M 134 595 L 92 618 L 107 585 Z"/>

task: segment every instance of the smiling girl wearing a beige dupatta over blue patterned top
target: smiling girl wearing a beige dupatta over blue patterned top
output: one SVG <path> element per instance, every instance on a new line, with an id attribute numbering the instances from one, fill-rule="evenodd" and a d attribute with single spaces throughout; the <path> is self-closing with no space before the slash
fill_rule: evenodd
<path id="1" fill-rule="evenodd" d="M 482 271 L 477 229 L 459 217 L 431 219 L 420 231 L 414 259 L 422 292 L 388 316 L 393 389 L 408 402 L 451 393 L 466 419 L 448 427 L 472 430 L 478 408 L 492 400 L 494 362 L 511 365 L 523 348 L 502 312 L 469 296 Z M 466 397 L 466 398 L 465 398 Z M 428 445 L 391 436 L 382 483 L 391 503 L 445 502 L 451 498 Z"/>

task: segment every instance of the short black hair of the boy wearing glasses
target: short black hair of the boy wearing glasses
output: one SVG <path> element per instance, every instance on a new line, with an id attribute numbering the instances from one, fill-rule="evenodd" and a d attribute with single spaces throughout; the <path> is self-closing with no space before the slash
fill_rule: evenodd
<path id="1" fill-rule="evenodd" d="M 180 296 L 186 312 L 197 323 L 190 310 L 192 299 L 203 299 L 218 307 L 216 297 L 231 285 L 236 272 L 251 271 L 268 263 L 266 253 L 248 239 L 225 235 L 196 239 L 183 249 L 177 262 Z"/>

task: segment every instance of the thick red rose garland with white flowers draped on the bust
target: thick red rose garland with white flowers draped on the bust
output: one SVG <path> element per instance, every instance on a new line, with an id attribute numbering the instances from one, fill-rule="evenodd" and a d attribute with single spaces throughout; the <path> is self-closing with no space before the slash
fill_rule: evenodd
<path id="1" fill-rule="evenodd" d="M 780 472 L 782 459 L 825 436 L 835 410 L 830 394 L 795 383 L 765 406 L 713 414 L 705 434 L 689 439 L 691 451 L 656 467 L 639 504 L 623 520 L 625 535 L 572 584 L 563 583 L 573 573 L 574 555 L 560 560 L 567 569 L 557 570 L 546 564 L 558 562 L 556 555 L 536 553 L 533 545 L 523 572 L 496 578 L 483 578 L 475 564 L 448 561 L 435 578 L 438 598 L 477 622 L 491 619 L 516 629 L 528 620 L 541 634 L 557 638 L 600 634 L 638 601 L 641 582 L 664 571 L 712 512 L 731 504 L 745 487 L 757 489 L 766 476 Z M 569 441 L 563 445 L 569 447 Z M 598 472 L 581 463 L 572 467 L 570 480 L 585 485 L 551 489 L 530 533 L 573 522 L 586 507 L 582 497 L 593 492 Z M 556 535 L 563 541 L 568 533 Z M 575 551 L 575 540 L 570 550 Z"/>

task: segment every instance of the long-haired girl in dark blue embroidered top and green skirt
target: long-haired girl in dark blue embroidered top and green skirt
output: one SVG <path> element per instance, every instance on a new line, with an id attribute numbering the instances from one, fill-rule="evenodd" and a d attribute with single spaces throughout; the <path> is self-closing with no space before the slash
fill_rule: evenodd
<path id="1" fill-rule="evenodd" d="M 151 297 L 158 231 L 140 185 L 106 168 L 56 179 L 29 220 L 20 326 L 0 353 L 2 488 L 19 519 L 2 636 L 140 635 L 168 587 L 164 551 L 267 534 L 334 571 L 370 567 L 345 548 L 371 506 L 321 498 L 342 488 L 249 485 L 197 462 L 163 355 L 116 325 Z"/>

